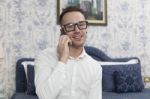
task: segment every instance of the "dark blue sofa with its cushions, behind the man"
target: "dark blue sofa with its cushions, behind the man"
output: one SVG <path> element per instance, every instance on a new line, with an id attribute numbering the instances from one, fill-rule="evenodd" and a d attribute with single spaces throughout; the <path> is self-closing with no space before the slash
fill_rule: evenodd
<path id="1" fill-rule="evenodd" d="M 85 50 L 102 66 L 102 99 L 150 99 L 150 89 L 144 88 L 137 57 L 110 58 L 91 46 L 85 46 Z M 34 58 L 21 58 L 16 62 L 16 91 L 11 99 L 38 99 L 34 85 Z"/>

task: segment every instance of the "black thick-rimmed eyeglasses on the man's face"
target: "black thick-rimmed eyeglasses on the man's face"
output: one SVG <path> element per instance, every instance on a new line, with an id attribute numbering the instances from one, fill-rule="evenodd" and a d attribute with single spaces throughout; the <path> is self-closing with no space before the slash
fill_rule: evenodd
<path id="1" fill-rule="evenodd" d="M 77 23 L 69 23 L 69 24 L 65 24 L 62 27 L 65 29 L 66 32 L 71 32 L 71 31 L 75 31 L 76 25 L 78 27 L 78 29 L 83 30 L 87 28 L 87 21 L 79 21 Z"/>

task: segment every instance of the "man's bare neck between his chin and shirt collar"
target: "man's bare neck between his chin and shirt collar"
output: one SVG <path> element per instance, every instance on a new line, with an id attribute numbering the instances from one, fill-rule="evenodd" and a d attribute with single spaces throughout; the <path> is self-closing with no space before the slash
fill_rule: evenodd
<path id="1" fill-rule="evenodd" d="M 82 47 L 70 47 L 70 56 L 73 58 L 77 58 L 83 50 L 83 46 Z"/>

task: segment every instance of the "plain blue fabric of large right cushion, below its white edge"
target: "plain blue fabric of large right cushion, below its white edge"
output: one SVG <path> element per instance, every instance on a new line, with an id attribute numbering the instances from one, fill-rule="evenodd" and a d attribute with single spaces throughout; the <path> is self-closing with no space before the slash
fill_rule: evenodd
<path id="1" fill-rule="evenodd" d="M 115 71 L 122 71 L 135 68 L 139 75 L 141 74 L 141 66 L 138 64 L 128 65 L 102 65 L 102 87 L 103 91 L 115 91 L 115 82 L 113 73 Z"/>

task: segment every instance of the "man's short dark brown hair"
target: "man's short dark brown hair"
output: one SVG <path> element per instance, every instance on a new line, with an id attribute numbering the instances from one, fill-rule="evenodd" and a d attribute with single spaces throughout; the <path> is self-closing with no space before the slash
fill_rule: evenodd
<path id="1" fill-rule="evenodd" d="M 84 16 L 85 19 L 86 19 L 85 12 L 84 12 L 81 8 L 76 7 L 76 6 L 68 6 L 67 8 L 63 9 L 62 13 L 61 13 L 60 16 L 59 16 L 59 24 L 61 24 L 62 19 L 63 19 L 63 16 L 64 16 L 66 13 L 68 13 L 68 12 L 74 12 L 74 11 L 80 12 L 81 14 L 83 14 L 83 16 Z"/>

